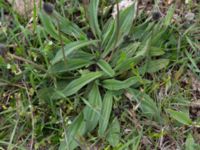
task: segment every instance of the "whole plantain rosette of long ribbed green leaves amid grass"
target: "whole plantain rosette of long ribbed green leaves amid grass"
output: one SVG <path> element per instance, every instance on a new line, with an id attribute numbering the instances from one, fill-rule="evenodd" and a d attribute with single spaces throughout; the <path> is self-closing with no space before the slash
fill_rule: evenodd
<path id="1" fill-rule="evenodd" d="M 46 75 L 53 78 L 53 84 L 40 90 L 40 99 L 81 103 L 72 123 L 64 122 L 61 150 L 84 146 L 89 135 L 120 148 L 122 128 L 113 110 L 124 99 L 138 104 L 143 117 L 163 123 L 161 106 L 145 90 L 154 83 L 149 77 L 174 59 L 168 47 L 176 43 L 166 40 L 175 38 L 168 23 L 171 12 L 160 21 L 148 18 L 138 24 L 141 16 L 136 3 L 118 11 L 115 18 L 103 19 L 99 19 L 99 3 L 91 0 L 85 9 L 86 29 L 55 10 L 53 14 L 40 12 L 47 37 L 63 41 L 55 55 L 47 57 Z"/>

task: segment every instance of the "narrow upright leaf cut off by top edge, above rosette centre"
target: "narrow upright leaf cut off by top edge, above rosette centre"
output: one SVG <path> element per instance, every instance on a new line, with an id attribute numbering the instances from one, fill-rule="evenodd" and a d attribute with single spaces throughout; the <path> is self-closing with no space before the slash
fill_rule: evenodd
<path id="1" fill-rule="evenodd" d="M 98 23 L 99 0 L 92 0 L 89 4 L 89 24 L 95 36 L 101 37 L 101 30 Z"/>

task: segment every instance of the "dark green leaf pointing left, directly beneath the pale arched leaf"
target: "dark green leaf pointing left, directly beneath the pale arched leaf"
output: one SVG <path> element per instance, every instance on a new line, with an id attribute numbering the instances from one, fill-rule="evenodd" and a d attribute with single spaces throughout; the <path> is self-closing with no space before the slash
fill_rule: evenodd
<path id="1" fill-rule="evenodd" d="M 66 71 L 73 71 L 91 64 L 92 61 L 89 59 L 68 59 L 67 62 L 61 61 L 54 64 L 49 68 L 48 72 L 51 74 L 56 74 Z"/>

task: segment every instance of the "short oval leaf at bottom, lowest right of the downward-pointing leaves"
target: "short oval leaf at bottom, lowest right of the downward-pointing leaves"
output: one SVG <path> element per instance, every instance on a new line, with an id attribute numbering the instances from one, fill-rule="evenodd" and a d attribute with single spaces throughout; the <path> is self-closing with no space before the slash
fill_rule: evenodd
<path id="1" fill-rule="evenodd" d="M 113 147 L 117 146 L 120 141 L 120 124 L 117 118 L 113 120 L 111 125 L 109 126 L 108 136 L 106 140 Z"/>

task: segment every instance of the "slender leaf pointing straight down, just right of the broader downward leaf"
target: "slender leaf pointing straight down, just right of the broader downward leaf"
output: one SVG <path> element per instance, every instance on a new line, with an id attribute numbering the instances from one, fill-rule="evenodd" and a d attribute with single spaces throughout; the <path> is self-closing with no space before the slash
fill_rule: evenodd
<path id="1" fill-rule="evenodd" d="M 99 120 L 98 134 L 100 137 L 104 136 L 104 133 L 107 129 L 112 110 L 112 103 L 113 103 L 113 95 L 110 91 L 107 91 L 103 99 L 101 117 Z"/>

